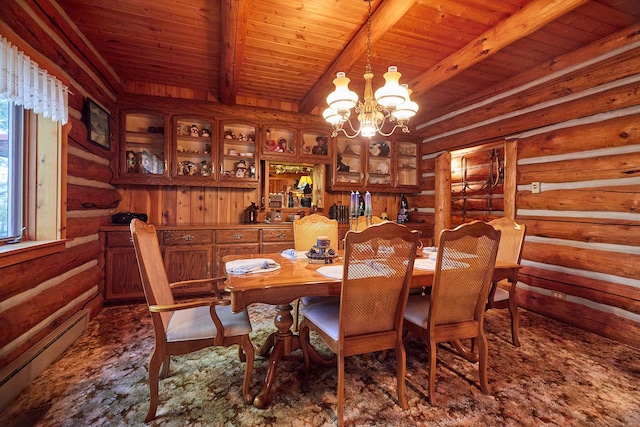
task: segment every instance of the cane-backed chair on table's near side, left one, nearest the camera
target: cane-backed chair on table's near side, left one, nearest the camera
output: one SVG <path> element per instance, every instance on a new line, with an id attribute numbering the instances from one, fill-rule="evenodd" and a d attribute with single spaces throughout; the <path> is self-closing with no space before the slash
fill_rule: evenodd
<path id="1" fill-rule="evenodd" d="M 305 368 L 309 368 L 309 359 L 316 354 L 309 343 L 310 330 L 337 354 L 338 425 L 344 418 L 348 356 L 394 349 L 398 404 L 408 408 L 402 319 L 419 238 L 417 231 L 393 222 L 347 232 L 340 300 L 302 307 L 300 341 Z M 322 362 L 317 357 L 314 360 Z"/>

